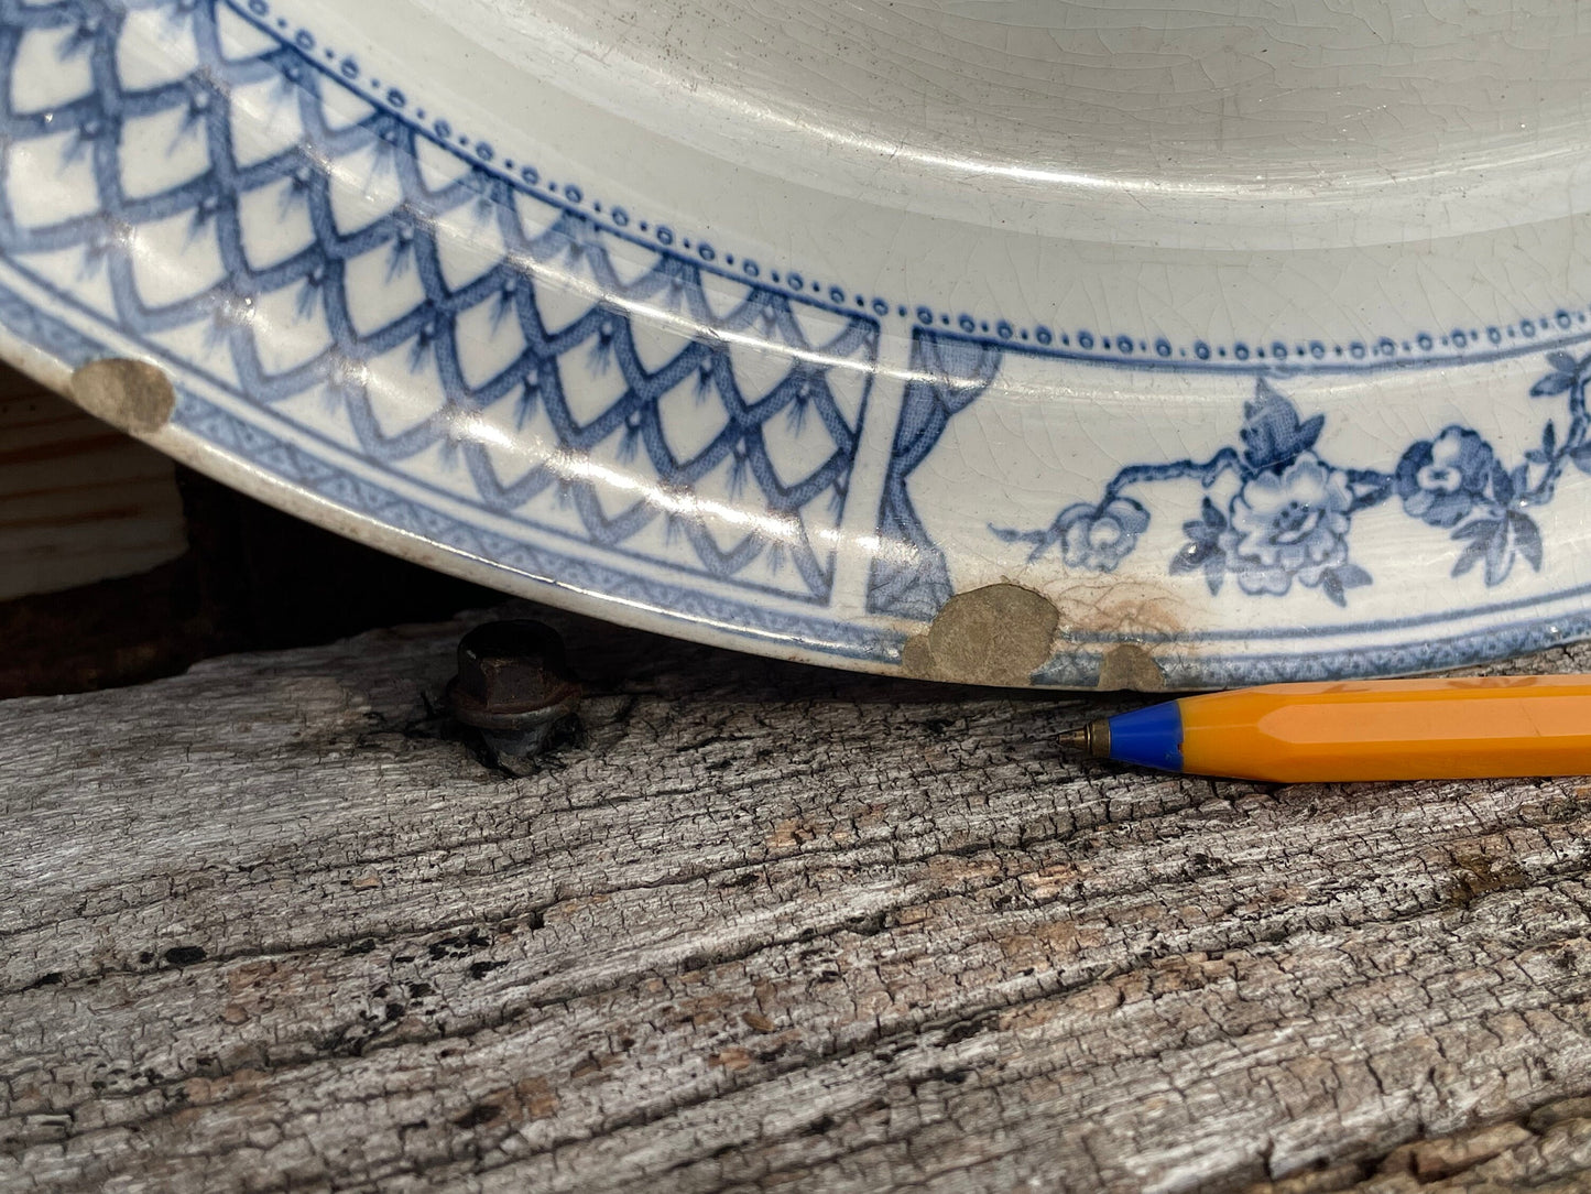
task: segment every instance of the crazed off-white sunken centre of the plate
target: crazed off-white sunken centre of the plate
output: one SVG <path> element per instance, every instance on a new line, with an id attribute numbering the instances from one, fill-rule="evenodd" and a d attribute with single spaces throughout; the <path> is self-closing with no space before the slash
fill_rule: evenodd
<path id="1" fill-rule="evenodd" d="M 991 223 L 1112 245 L 1519 223 L 1476 189 L 1553 210 L 1591 132 L 1591 22 L 1558 0 L 417 2 L 657 139 L 932 215 L 975 188 Z"/>

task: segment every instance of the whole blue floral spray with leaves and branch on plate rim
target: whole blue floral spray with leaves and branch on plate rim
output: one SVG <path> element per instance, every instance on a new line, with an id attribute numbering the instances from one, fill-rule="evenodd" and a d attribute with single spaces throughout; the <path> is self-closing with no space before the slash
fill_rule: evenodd
<path id="1" fill-rule="evenodd" d="M 1227 576 L 1246 594 L 1271 597 L 1287 595 L 1297 581 L 1346 605 L 1349 589 L 1373 583 L 1349 557 L 1354 514 L 1394 494 L 1405 514 L 1451 532 L 1464 544 L 1453 576 L 1481 568 L 1486 584 L 1497 586 L 1521 559 L 1542 570 L 1542 532 L 1529 511 L 1553 500 L 1569 465 L 1591 473 L 1591 355 L 1550 352 L 1546 363 L 1551 371 L 1531 387 L 1531 396 L 1567 395 L 1569 425 L 1559 436 L 1550 419 L 1540 446 L 1511 470 L 1480 431 L 1459 425 L 1410 444 L 1391 473 L 1343 468 L 1316 449 L 1325 416 L 1301 419 L 1298 408 L 1262 379 L 1243 408 L 1241 447 L 1222 447 L 1209 460 L 1128 465 L 1098 505 L 1066 506 L 1042 530 L 990 530 L 1006 543 L 1031 544 L 1029 559 L 1060 548 L 1068 567 L 1114 572 L 1149 529 L 1147 508 L 1123 490 L 1187 478 L 1212 490 L 1235 474 L 1230 497 L 1216 501 L 1206 492 L 1198 517 L 1182 524 L 1187 541 L 1169 565 L 1173 575 L 1201 573 L 1211 594 L 1220 592 Z"/>

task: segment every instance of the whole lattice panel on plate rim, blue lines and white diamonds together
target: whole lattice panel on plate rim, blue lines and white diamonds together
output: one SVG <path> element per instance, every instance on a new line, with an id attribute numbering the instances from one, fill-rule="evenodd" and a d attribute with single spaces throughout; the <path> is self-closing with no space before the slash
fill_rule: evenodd
<path id="1" fill-rule="evenodd" d="M 129 35 L 167 38 L 194 65 L 145 80 Z M 16 103 L 27 56 L 57 72 L 29 80 L 54 92 L 37 110 Z M 438 153 L 216 0 L 10 0 L 0 62 L 11 154 L 78 180 L 76 210 L 21 196 L 0 215 L 14 264 L 103 291 L 111 323 L 140 341 L 199 326 L 185 366 L 482 511 L 614 559 L 826 600 L 819 532 L 845 506 L 870 315 L 624 242 Z M 175 245 L 189 277 L 140 269 L 145 237 Z M 256 338 L 266 310 L 291 334 Z M 305 417 L 307 395 L 321 411 Z M 539 458 L 493 454 L 480 435 L 538 419 Z M 665 500 L 605 490 L 616 466 Z M 714 535 L 695 514 L 706 489 L 760 522 Z"/>

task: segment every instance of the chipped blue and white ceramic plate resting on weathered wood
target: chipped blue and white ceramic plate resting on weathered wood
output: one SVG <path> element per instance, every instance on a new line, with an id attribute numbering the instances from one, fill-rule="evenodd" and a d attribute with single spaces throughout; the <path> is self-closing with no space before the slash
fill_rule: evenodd
<path id="1" fill-rule="evenodd" d="M 1570 0 L 0 0 L 3 347 L 671 634 L 1449 667 L 1591 627 L 1586 62 Z"/>

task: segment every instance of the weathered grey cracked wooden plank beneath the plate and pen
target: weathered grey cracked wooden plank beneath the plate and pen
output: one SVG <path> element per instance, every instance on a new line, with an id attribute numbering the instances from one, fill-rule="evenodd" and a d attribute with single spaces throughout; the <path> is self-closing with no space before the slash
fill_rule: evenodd
<path id="1" fill-rule="evenodd" d="M 0 705 L 0 1188 L 1585 1188 L 1591 785 L 562 624 L 523 780 L 428 715 L 460 626 Z"/>

